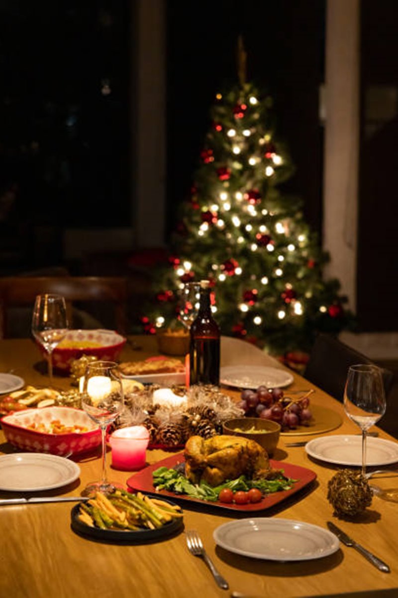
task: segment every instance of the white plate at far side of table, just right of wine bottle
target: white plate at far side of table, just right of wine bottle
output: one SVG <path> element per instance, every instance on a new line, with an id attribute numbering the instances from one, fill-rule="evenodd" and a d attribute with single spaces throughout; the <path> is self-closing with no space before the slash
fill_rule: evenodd
<path id="1" fill-rule="evenodd" d="M 279 368 L 262 365 L 227 365 L 220 368 L 220 382 L 236 388 L 283 388 L 293 382 L 292 374 Z"/>

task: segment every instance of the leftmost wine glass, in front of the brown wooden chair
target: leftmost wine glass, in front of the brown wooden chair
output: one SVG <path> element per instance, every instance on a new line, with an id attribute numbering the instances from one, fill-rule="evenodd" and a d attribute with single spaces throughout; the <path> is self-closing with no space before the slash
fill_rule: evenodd
<path id="1" fill-rule="evenodd" d="M 50 385 L 53 385 L 53 351 L 67 332 L 66 303 L 61 295 L 37 295 L 32 316 L 32 334 L 47 353 Z"/>

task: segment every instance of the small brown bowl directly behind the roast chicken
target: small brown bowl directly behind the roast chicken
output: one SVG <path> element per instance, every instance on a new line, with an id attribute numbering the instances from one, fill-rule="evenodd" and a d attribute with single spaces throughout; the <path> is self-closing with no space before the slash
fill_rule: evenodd
<path id="1" fill-rule="evenodd" d="M 255 430 L 250 432 L 250 430 Z M 224 434 L 243 436 L 260 444 L 272 456 L 279 441 L 280 425 L 260 417 L 236 417 L 223 423 Z"/>

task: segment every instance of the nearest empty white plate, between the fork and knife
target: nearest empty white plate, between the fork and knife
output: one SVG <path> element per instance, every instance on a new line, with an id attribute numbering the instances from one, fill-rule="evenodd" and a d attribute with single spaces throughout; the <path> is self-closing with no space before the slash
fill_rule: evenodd
<path id="1" fill-rule="evenodd" d="M 223 523 L 214 530 L 213 538 L 232 553 L 277 561 L 321 559 L 340 546 L 334 533 L 323 527 L 270 517 Z"/>

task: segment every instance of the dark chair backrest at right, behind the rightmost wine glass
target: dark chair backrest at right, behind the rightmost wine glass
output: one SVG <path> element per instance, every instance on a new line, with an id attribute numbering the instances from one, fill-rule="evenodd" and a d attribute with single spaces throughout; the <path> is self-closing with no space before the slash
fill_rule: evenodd
<path id="1" fill-rule="evenodd" d="M 338 401 L 343 401 L 348 368 L 350 365 L 356 364 L 374 364 L 374 362 L 362 353 L 348 347 L 338 338 L 320 333 L 311 349 L 304 378 L 334 396 Z M 387 396 L 393 385 L 394 374 L 385 368 L 381 368 L 381 370 Z"/>

